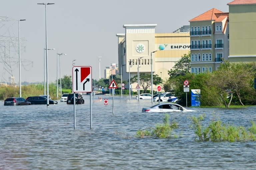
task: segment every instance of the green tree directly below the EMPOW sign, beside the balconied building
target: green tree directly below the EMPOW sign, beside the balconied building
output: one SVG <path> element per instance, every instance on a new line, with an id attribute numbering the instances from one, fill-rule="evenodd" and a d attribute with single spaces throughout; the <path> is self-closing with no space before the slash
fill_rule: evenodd
<path id="1" fill-rule="evenodd" d="M 172 69 L 168 70 L 170 78 L 175 77 L 179 74 L 184 75 L 190 72 L 190 52 L 181 56 L 181 59 L 175 63 Z"/>

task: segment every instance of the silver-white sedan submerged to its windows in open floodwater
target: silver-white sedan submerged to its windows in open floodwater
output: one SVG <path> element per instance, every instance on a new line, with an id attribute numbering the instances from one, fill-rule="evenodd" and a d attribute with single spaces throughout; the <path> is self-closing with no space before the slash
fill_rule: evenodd
<path id="1" fill-rule="evenodd" d="M 160 103 L 150 108 L 142 108 L 142 112 L 198 112 L 186 109 L 176 103 Z"/>

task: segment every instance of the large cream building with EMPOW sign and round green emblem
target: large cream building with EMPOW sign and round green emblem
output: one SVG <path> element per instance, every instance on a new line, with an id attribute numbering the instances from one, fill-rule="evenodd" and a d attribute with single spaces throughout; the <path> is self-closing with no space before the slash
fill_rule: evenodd
<path id="1" fill-rule="evenodd" d="M 119 75 L 129 82 L 129 62 L 131 77 L 144 72 L 152 72 L 163 80 L 168 79 L 170 70 L 183 54 L 190 50 L 189 30 L 176 33 L 155 33 L 156 24 L 123 25 L 125 34 L 118 37 L 118 65 Z M 163 50 L 160 50 L 163 49 Z M 156 52 L 154 52 L 156 51 Z M 139 67 L 138 67 L 139 66 Z M 135 90 L 137 83 L 132 85 Z M 125 88 L 129 89 L 126 85 Z M 155 90 L 155 86 L 153 86 Z"/>

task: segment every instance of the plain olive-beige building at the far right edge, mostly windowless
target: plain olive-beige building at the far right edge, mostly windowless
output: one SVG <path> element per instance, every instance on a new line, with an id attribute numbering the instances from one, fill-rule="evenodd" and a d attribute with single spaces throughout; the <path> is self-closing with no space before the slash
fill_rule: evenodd
<path id="1" fill-rule="evenodd" d="M 229 6 L 229 61 L 256 61 L 256 0 L 234 0 Z"/>

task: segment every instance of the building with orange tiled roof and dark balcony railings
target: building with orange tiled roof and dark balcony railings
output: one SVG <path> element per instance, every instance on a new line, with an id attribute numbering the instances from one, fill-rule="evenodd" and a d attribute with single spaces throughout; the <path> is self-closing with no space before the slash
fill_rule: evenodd
<path id="1" fill-rule="evenodd" d="M 212 8 L 189 20 L 191 72 L 216 70 L 229 56 L 229 13 Z"/>

